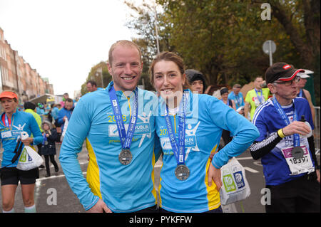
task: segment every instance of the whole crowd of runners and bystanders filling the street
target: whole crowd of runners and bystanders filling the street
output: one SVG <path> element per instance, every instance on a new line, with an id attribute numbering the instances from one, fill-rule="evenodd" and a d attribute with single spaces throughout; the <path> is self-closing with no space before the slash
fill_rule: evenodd
<path id="1" fill-rule="evenodd" d="M 0 94 L 4 212 L 14 212 L 18 181 L 26 212 L 36 211 L 38 168 L 21 171 L 18 160 L 11 162 L 22 131 L 32 134 L 21 140 L 24 145 L 39 144 L 47 176 L 49 159 L 58 171 L 55 142 L 63 137 L 59 162 L 87 212 L 222 213 L 220 168 L 246 149 L 263 164 L 271 191 L 267 212 L 320 212 L 314 113 L 310 94 L 300 85 L 309 76 L 304 70 L 275 63 L 264 79 L 255 78 L 255 88 L 245 97 L 235 84 L 231 92 L 221 88 L 218 99 L 204 94 L 203 73 L 185 70 L 183 59 L 168 51 L 159 53 L 149 68 L 156 93 L 138 88 L 141 55 L 136 43 L 113 43 L 108 52 L 113 80 L 107 88 L 88 81 L 89 93 L 76 107 L 65 97 L 61 110 L 51 110 L 49 121 L 39 122 L 34 103 L 17 111 L 17 95 Z M 221 138 L 224 146 L 219 146 Z M 89 160 L 86 178 L 77 159 L 83 142 Z M 163 162 L 159 206 L 153 169 L 158 159 Z"/>

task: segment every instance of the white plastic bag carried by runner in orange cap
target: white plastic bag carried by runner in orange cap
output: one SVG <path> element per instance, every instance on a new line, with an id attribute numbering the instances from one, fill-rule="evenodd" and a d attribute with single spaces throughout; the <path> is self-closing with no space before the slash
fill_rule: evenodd
<path id="1" fill-rule="evenodd" d="M 21 139 L 28 138 L 29 135 L 26 132 L 21 132 Z M 41 158 L 37 152 L 29 146 L 24 146 L 22 150 L 19 162 L 16 166 L 16 169 L 20 170 L 30 170 L 37 167 L 40 167 L 41 164 L 44 163 L 44 159 Z"/>

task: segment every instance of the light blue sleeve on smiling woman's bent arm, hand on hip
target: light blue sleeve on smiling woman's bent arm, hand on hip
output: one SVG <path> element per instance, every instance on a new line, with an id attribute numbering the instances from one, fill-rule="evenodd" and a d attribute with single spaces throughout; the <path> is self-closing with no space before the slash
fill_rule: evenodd
<path id="1" fill-rule="evenodd" d="M 234 136 L 232 141 L 220 149 L 213 157 L 212 164 L 220 169 L 228 163 L 232 157 L 236 157 L 245 152 L 250 144 L 260 135 L 258 129 L 245 117 L 238 114 L 223 102 L 214 99 L 208 100 L 208 111 L 215 125 L 228 130 Z"/>

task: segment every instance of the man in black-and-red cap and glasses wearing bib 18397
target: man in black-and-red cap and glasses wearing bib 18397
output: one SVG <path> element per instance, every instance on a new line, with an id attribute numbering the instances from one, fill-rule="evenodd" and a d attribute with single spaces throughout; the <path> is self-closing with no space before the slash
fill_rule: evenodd
<path id="1" fill-rule="evenodd" d="M 312 115 L 307 100 L 297 97 L 304 72 L 287 63 L 267 68 L 265 80 L 274 95 L 255 111 L 253 124 L 260 137 L 250 147 L 263 164 L 272 212 L 320 213 L 320 166 L 315 156 Z"/>

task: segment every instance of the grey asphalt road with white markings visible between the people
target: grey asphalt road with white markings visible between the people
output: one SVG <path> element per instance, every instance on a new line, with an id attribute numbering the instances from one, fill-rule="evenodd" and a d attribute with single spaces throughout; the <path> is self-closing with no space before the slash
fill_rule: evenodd
<path id="1" fill-rule="evenodd" d="M 60 144 L 57 144 L 57 154 L 60 150 Z M 320 154 L 317 155 L 320 162 Z M 233 205 L 223 206 L 225 212 L 238 213 L 265 213 L 265 206 L 261 204 L 261 190 L 265 188 L 263 176 L 263 167 L 260 161 L 255 161 L 250 157 L 250 152 L 246 151 L 237 157 L 240 164 L 245 168 L 245 175 L 250 184 L 251 194 L 248 199 L 237 202 Z M 87 150 L 83 146 L 83 151 L 78 156 L 79 163 L 84 176 L 87 169 Z M 58 161 L 58 155 L 56 156 Z M 59 163 L 58 166 L 60 167 Z M 156 163 L 155 174 L 159 176 L 161 163 Z M 71 191 L 63 171 L 61 168 L 58 172 L 54 171 L 54 166 L 51 165 L 51 176 L 45 177 L 46 170 L 40 169 L 40 178 L 36 180 L 35 186 L 35 202 L 37 212 L 41 213 L 83 213 L 83 207 L 78 201 L 78 198 Z M 156 179 L 156 184 L 159 179 Z M 0 189 L 1 191 L 1 189 Z M 1 204 L 1 198 L 0 198 Z M 21 187 L 16 190 L 16 200 L 14 208 L 16 212 L 24 212 L 24 204 L 22 203 Z M 1 207 L 0 207 L 0 211 Z"/>

